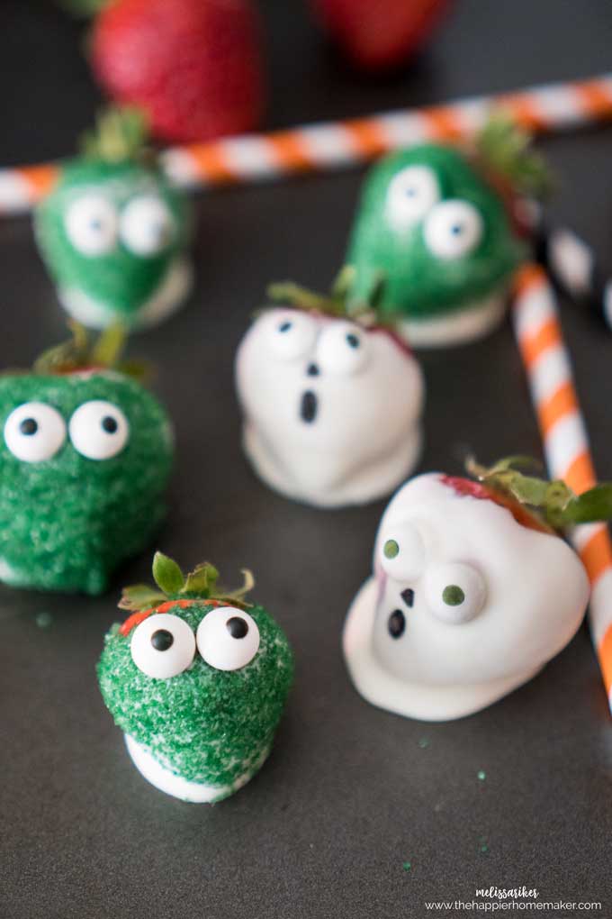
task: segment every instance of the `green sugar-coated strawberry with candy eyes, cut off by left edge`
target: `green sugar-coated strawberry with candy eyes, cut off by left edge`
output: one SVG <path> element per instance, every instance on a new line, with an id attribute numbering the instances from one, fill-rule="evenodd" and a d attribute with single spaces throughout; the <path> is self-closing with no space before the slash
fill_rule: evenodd
<path id="1" fill-rule="evenodd" d="M 100 594 L 165 514 L 172 428 L 122 372 L 119 336 L 81 329 L 32 371 L 0 376 L 0 580 Z M 126 366 L 123 369 L 128 369 Z"/>

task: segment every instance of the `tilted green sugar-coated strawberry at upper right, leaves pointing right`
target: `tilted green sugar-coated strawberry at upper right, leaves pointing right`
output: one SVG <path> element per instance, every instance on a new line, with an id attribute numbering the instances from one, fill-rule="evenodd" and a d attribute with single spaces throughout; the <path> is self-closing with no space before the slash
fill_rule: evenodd
<path id="1" fill-rule="evenodd" d="M 373 167 L 351 235 L 351 300 L 382 284 L 379 309 L 414 346 L 459 344 L 504 315 L 527 255 L 517 203 L 548 183 L 529 136 L 497 116 L 469 150 L 427 143 Z"/>

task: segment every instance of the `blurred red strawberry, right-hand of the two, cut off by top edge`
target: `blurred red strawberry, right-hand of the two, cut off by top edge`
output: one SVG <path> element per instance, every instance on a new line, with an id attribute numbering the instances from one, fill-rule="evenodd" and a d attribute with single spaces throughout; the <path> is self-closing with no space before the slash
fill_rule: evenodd
<path id="1" fill-rule="evenodd" d="M 379 70 L 403 63 L 428 38 L 448 0 L 313 0 L 351 59 Z"/>

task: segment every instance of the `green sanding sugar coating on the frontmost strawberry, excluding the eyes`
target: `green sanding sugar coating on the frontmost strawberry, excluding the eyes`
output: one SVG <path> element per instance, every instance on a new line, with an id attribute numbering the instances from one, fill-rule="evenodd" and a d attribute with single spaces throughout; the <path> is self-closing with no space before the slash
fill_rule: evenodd
<path id="1" fill-rule="evenodd" d="M 195 632 L 213 608 L 202 600 L 167 611 Z M 190 781 L 226 786 L 256 771 L 283 714 L 294 671 L 289 643 L 263 607 L 250 607 L 249 615 L 260 631 L 259 651 L 233 671 L 216 670 L 196 652 L 183 673 L 154 679 L 132 660 L 132 633 L 106 635 L 97 672 L 118 727 Z"/>

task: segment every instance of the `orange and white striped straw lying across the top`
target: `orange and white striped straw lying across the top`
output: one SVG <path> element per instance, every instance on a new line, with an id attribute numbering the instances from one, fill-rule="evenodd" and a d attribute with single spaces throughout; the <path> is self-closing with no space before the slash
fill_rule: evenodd
<path id="1" fill-rule="evenodd" d="M 161 158 L 177 185 L 255 182 L 354 165 L 423 141 L 456 141 L 480 128 L 494 107 L 506 109 L 519 125 L 536 133 L 612 119 L 612 74 L 430 108 L 171 147 Z M 0 169 L 0 213 L 30 210 L 52 186 L 58 171 L 57 164 Z"/>

